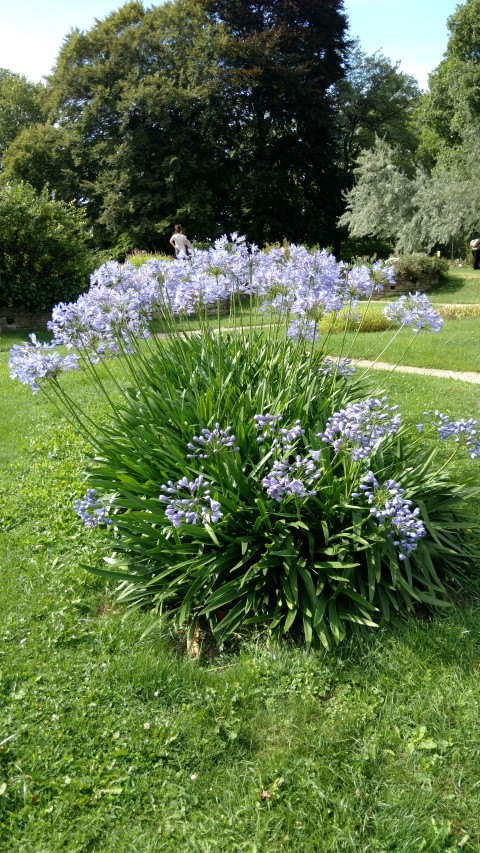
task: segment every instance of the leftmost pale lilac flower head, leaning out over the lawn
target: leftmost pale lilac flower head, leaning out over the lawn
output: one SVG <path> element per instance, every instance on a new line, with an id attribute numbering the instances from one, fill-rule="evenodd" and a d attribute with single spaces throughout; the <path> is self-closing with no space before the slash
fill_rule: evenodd
<path id="1" fill-rule="evenodd" d="M 75 355 L 61 356 L 56 352 L 55 343 L 42 344 L 34 334 L 31 343 L 14 344 L 8 361 L 10 376 L 24 385 L 29 385 L 35 393 L 46 382 L 56 379 L 60 373 L 77 370 L 78 359 Z"/>

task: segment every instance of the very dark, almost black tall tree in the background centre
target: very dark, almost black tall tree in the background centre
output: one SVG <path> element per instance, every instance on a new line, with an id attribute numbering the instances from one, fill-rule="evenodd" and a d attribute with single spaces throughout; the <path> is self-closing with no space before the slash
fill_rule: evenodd
<path id="1" fill-rule="evenodd" d="M 216 108 L 232 224 L 260 243 L 332 239 L 343 0 L 200 2 L 227 34 Z"/>

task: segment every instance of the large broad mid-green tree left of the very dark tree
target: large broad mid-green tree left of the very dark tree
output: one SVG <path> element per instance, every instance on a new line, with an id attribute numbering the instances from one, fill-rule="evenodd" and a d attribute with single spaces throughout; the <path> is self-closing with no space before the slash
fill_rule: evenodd
<path id="1" fill-rule="evenodd" d="M 178 219 L 191 234 L 216 236 L 222 182 L 209 91 L 217 31 L 195 0 L 147 11 L 134 0 L 88 32 L 73 30 L 48 78 L 37 156 L 30 134 L 12 151 L 11 173 L 34 185 L 48 175 L 59 197 L 81 200 L 100 246 L 164 248 Z M 48 138 L 59 143 L 51 168 L 41 165 Z M 62 150 L 63 169 L 50 180 Z"/>

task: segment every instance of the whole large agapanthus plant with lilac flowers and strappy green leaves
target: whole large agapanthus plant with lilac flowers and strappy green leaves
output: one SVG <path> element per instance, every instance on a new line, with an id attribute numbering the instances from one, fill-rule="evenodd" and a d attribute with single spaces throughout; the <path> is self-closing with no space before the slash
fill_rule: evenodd
<path id="1" fill-rule="evenodd" d="M 14 378 L 77 416 L 92 445 L 76 511 L 112 536 L 110 567 L 92 571 L 118 579 L 121 601 L 190 632 L 203 620 L 218 641 L 259 625 L 328 646 L 444 603 L 445 580 L 478 563 L 472 490 L 319 331 L 391 276 L 232 235 L 186 261 L 104 265 L 54 310 L 52 346 L 12 352 Z M 222 329 L 208 312 L 225 302 Z M 397 324 L 439 330 L 425 298 L 398 304 Z M 101 428 L 62 384 L 78 366 L 109 411 Z M 433 423 L 476 455 L 474 424 Z"/>

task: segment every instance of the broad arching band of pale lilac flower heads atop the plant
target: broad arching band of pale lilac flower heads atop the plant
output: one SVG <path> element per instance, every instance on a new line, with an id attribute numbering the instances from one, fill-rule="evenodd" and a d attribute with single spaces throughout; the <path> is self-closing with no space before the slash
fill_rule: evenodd
<path id="1" fill-rule="evenodd" d="M 371 267 L 337 262 L 326 250 L 309 252 L 290 245 L 261 251 L 248 246 L 244 237 L 231 234 L 208 250 L 196 250 L 188 264 L 182 260 L 149 260 L 140 268 L 128 261 L 103 264 L 92 273 L 88 291 L 76 302 L 59 303 L 53 309 L 48 324 L 51 346 L 74 348 L 95 363 L 109 354 L 130 352 L 136 339 L 150 334 L 150 321 L 159 311 L 192 314 L 249 294 L 263 298 L 263 308 L 288 316 L 287 333 L 293 341 L 315 342 L 322 317 L 346 306 L 354 310 L 359 299 L 391 281 L 392 274 L 393 268 L 379 262 Z M 415 329 L 434 328 L 433 317 L 438 315 L 427 297 L 414 295 L 410 302 L 408 311 L 402 310 L 413 318 Z M 404 317 L 402 322 L 410 320 Z M 14 348 L 12 377 L 38 390 L 37 375 L 48 379 L 60 369 L 71 369 L 73 361 L 64 361 L 60 368 L 60 358 L 52 354 L 42 373 L 38 351 L 23 348 L 20 359 Z"/>

